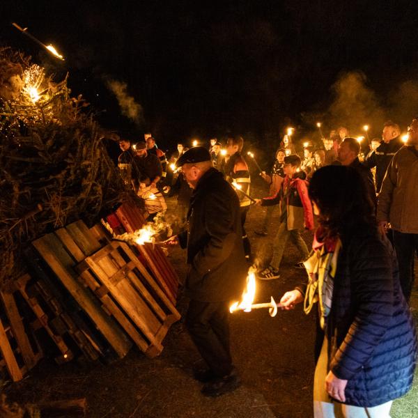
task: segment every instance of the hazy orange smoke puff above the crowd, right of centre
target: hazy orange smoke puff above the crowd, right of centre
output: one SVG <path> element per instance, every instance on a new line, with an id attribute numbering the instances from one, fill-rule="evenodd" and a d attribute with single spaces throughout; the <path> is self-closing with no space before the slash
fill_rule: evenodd
<path id="1" fill-rule="evenodd" d="M 329 109 L 336 124 L 358 127 L 364 123 L 380 126 L 385 121 L 385 111 L 378 98 L 366 85 L 363 72 L 346 72 L 332 86 L 334 101 Z"/>

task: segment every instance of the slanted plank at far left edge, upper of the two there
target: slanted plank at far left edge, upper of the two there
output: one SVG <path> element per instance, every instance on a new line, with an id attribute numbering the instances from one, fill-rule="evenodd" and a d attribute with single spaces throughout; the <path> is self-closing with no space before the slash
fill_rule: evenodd
<path id="1" fill-rule="evenodd" d="M 36 364 L 36 355 L 33 353 L 31 343 L 29 343 L 28 336 L 24 331 L 22 317 L 17 310 L 13 293 L 0 292 L 0 296 L 3 301 L 4 310 L 6 311 L 13 336 L 16 339 L 17 346 L 20 348 L 24 364 L 26 364 L 28 369 L 32 369 L 32 367 Z"/>

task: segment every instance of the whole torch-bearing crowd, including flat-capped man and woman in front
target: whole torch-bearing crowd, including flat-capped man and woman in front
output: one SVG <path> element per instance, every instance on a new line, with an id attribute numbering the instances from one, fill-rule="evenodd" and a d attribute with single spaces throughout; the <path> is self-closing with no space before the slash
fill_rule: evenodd
<path id="1" fill-rule="evenodd" d="M 260 280 L 280 277 L 290 238 L 299 254 L 295 268 L 309 280 L 286 292 L 282 307 L 304 302 L 309 313 L 318 302 L 315 417 L 389 417 L 394 398 L 412 385 L 417 353 L 408 304 L 418 254 L 418 119 L 406 143 L 389 121 L 368 150 L 345 127 L 321 146 L 304 143 L 301 155 L 285 135 L 270 169 L 260 173 L 270 186 L 262 199 L 251 197 L 242 137 L 229 137 L 224 148 L 217 139 L 209 149 L 179 143 L 169 160 L 151 134 L 144 139 L 119 141 L 118 167 L 144 198 L 148 220 L 167 209 L 164 194 L 178 196 L 184 231 L 167 243 L 187 248 L 186 325 L 206 362 L 194 373 L 202 393 L 219 396 L 240 385 L 229 350 L 229 304 L 239 299 L 249 268 Z M 274 228 L 267 266 L 254 264 L 245 231 L 253 204 L 267 207 L 256 233 Z M 314 233 L 311 250 L 304 230 Z"/>

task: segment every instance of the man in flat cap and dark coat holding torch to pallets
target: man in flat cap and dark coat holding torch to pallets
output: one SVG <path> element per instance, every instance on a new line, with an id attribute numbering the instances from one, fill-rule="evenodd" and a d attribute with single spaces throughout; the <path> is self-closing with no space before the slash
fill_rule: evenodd
<path id="1" fill-rule="evenodd" d="M 242 245 L 240 201 L 212 167 L 206 148 L 190 148 L 177 162 L 193 189 L 189 227 L 171 239 L 187 247 L 186 326 L 208 369 L 195 371 L 202 393 L 219 396 L 240 385 L 229 350 L 229 306 L 240 300 L 247 263 Z"/>

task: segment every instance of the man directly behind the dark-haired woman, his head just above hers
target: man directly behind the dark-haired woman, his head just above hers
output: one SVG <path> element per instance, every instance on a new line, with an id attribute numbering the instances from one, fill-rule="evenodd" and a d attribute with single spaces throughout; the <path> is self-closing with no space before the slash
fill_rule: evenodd
<path id="1" fill-rule="evenodd" d="M 357 139 L 346 137 L 338 150 L 338 161 L 341 165 L 353 167 L 362 176 L 371 201 L 376 205 L 376 189 L 374 187 L 373 174 L 370 169 L 364 167 L 359 160 L 360 144 Z M 335 163 L 334 163 L 335 164 Z M 336 165 L 336 164 L 335 164 Z"/>

